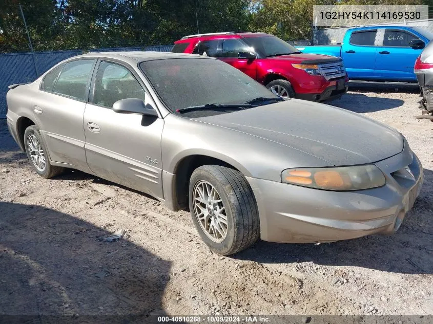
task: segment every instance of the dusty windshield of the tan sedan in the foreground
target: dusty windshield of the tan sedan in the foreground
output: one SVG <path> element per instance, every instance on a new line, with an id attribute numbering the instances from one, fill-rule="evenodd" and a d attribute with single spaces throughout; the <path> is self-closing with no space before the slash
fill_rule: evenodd
<path id="1" fill-rule="evenodd" d="M 160 59 L 141 62 L 140 68 L 173 112 L 211 103 L 232 104 L 257 97 L 278 98 L 248 75 L 217 59 Z"/>

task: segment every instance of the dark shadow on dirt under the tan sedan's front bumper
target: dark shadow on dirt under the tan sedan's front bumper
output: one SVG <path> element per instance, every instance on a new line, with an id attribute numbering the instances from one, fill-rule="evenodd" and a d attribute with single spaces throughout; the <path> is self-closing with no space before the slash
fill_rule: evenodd
<path id="1" fill-rule="evenodd" d="M 433 274 L 433 171 L 415 206 L 391 236 L 371 235 L 335 243 L 279 244 L 259 241 L 234 257 L 260 263 L 314 262 L 327 266 L 356 266 L 380 271 Z"/>

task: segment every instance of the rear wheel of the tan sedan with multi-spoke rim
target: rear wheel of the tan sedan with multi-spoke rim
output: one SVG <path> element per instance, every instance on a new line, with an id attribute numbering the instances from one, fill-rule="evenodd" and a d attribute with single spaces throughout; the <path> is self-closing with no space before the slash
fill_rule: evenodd
<path id="1" fill-rule="evenodd" d="M 30 138 L 31 144 L 29 144 Z M 29 147 L 29 145 L 31 145 L 32 147 Z M 31 125 L 26 128 L 26 131 L 24 132 L 24 146 L 26 148 L 27 158 L 29 159 L 30 164 L 39 176 L 49 179 L 58 176 L 65 170 L 65 168 L 63 167 L 51 165 L 51 160 L 47 153 L 47 145 L 45 145 L 42 136 L 40 136 L 39 128 L 36 125 Z M 35 156 L 34 148 L 37 147 L 39 148 L 39 150 L 37 150 L 39 154 L 36 154 L 36 161 L 39 161 L 40 163 L 35 162 L 34 158 L 32 158 L 32 156 Z M 41 156 L 43 156 L 45 159 L 45 166 L 43 163 L 44 160 L 40 158 Z"/>

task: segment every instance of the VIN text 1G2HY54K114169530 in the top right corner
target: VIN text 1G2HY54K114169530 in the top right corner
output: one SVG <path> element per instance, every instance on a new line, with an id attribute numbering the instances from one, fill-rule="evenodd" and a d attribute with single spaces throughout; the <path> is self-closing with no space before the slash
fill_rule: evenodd
<path id="1" fill-rule="evenodd" d="M 419 11 L 321 11 L 321 19 L 420 19 Z"/>

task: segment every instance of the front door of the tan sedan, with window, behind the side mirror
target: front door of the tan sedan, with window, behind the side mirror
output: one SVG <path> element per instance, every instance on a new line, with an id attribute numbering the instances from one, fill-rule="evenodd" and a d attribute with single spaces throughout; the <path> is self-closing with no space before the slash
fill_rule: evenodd
<path id="1" fill-rule="evenodd" d="M 125 98 L 142 99 L 156 107 L 133 70 L 117 61 L 100 60 L 84 113 L 86 157 L 99 177 L 163 198 L 162 118 L 119 114 L 113 104 Z"/>

